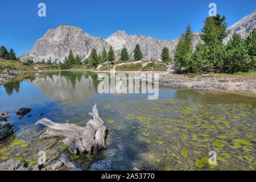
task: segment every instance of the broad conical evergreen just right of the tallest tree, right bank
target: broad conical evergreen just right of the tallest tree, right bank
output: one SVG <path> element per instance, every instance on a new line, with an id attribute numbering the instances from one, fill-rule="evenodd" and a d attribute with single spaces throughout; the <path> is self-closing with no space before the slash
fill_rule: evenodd
<path id="1" fill-rule="evenodd" d="M 234 32 L 232 39 L 226 45 L 224 71 L 227 73 L 246 72 L 251 67 L 245 42 Z"/>

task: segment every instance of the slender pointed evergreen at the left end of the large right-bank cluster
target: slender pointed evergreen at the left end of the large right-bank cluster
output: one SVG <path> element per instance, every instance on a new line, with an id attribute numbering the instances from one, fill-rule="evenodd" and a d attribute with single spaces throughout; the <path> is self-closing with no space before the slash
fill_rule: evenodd
<path id="1" fill-rule="evenodd" d="M 189 62 L 191 62 L 192 56 L 192 40 L 193 33 L 191 26 L 188 24 L 185 34 L 181 34 L 179 43 L 177 44 L 176 51 L 174 52 L 174 61 L 177 69 L 187 68 Z"/>

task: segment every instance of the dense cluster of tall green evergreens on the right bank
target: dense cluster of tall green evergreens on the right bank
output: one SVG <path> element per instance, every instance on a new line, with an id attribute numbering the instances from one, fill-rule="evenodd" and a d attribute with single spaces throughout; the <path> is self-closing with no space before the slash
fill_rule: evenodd
<path id="1" fill-rule="evenodd" d="M 225 15 L 209 16 L 204 20 L 199 42 L 195 51 L 192 48 L 193 32 L 188 24 L 184 34 L 181 34 L 174 53 L 176 68 L 181 72 L 217 72 L 236 73 L 255 70 L 256 63 L 256 30 L 241 38 L 234 32 L 227 44 L 223 43 L 229 32 Z"/>

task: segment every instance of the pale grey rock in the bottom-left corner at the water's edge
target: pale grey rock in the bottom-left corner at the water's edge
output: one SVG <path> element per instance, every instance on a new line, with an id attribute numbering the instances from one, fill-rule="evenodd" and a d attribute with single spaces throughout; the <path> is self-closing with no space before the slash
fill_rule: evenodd
<path id="1" fill-rule="evenodd" d="M 0 164 L 0 171 L 31 171 L 30 167 L 24 167 L 21 160 L 9 159 Z"/>

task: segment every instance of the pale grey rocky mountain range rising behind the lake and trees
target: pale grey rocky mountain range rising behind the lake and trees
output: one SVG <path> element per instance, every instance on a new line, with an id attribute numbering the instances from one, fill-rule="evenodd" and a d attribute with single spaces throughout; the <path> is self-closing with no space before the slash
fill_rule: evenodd
<path id="1" fill-rule="evenodd" d="M 232 38 L 234 32 L 237 32 L 242 38 L 255 28 L 256 10 L 250 15 L 245 16 L 237 23 L 228 28 L 229 34 L 224 39 L 224 43 Z M 127 48 L 130 58 L 133 58 L 133 49 L 136 44 L 139 44 L 143 53 L 143 60 L 160 60 L 163 47 L 167 47 L 170 51 L 170 56 L 174 57 L 174 51 L 180 38 L 172 40 L 156 40 L 143 35 L 127 35 L 125 31 L 118 31 L 109 36 L 108 39 L 97 38 L 82 31 L 81 28 L 75 26 L 60 25 L 56 29 L 49 29 L 46 34 L 36 43 L 32 50 L 25 55 L 20 56 L 20 60 L 27 61 L 32 59 L 35 62 L 47 61 L 51 57 L 52 61 L 63 62 L 65 56 L 68 55 L 69 49 L 74 55 L 88 58 L 92 48 L 96 48 L 98 53 L 101 53 L 105 47 L 108 51 L 112 46 L 115 52 L 116 59 L 123 47 Z M 200 33 L 194 33 L 193 49 L 200 42 Z"/>

